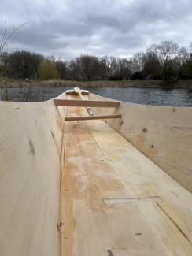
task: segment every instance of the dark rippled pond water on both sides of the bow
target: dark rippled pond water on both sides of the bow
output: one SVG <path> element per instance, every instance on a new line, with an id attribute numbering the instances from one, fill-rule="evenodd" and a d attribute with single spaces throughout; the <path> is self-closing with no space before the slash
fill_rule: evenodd
<path id="1" fill-rule="evenodd" d="M 68 87 L 9 89 L 12 101 L 39 102 L 61 95 Z M 151 88 L 86 88 L 90 92 L 124 102 L 164 106 L 192 106 L 192 90 L 188 89 L 151 89 Z M 2 91 L 3 92 L 3 91 Z M 0 94 L 0 99 L 2 95 Z"/>

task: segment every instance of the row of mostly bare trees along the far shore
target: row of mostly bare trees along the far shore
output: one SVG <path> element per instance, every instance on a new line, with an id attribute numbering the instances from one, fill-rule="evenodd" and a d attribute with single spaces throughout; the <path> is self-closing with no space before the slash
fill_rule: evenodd
<path id="1" fill-rule="evenodd" d="M 3 52 L 0 76 L 32 80 L 192 79 L 192 54 L 173 41 L 152 44 L 146 52 L 139 52 L 131 58 L 82 54 L 61 61 L 23 50 Z"/>

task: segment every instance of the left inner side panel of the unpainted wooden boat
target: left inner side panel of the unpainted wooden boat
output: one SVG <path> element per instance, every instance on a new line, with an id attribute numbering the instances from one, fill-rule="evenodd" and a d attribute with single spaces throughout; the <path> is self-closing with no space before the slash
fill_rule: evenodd
<path id="1" fill-rule="evenodd" d="M 0 102 L 0 255 L 59 254 L 64 109 Z"/>

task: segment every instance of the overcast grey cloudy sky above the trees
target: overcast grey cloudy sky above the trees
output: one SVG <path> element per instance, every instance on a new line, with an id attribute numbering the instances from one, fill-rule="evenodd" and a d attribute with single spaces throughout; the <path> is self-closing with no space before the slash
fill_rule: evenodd
<path id="1" fill-rule="evenodd" d="M 1 0 L 0 28 L 26 23 L 9 50 L 130 57 L 152 43 L 192 41 L 192 0 Z"/>

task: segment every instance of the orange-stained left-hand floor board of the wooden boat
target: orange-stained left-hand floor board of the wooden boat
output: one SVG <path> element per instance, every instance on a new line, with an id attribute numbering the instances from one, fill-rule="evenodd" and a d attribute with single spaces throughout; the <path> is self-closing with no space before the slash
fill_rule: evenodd
<path id="1" fill-rule="evenodd" d="M 71 108 L 68 111 L 74 112 Z M 85 113 L 82 108 L 77 111 L 78 114 Z M 94 122 L 98 128 L 100 123 L 105 124 Z M 105 130 L 100 132 L 105 138 Z M 109 162 L 102 158 L 103 154 L 87 124 L 66 123 L 65 136 L 61 256 L 166 255 L 161 242 L 134 203 L 103 205 L 102 198 L 123 197 L 125 190 Z"/>

